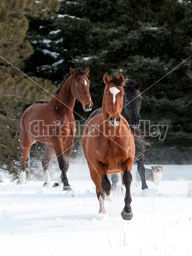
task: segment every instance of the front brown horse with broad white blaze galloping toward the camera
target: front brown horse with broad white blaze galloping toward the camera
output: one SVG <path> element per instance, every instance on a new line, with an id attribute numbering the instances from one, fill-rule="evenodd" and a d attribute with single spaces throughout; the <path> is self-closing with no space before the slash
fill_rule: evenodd
<path id="1" fill-rule="evenodd" d="M 122 73 L 114 73 L 112 78 L 105 73 L 103 79 L 106 86 L 102 114 L 94 116 L 88 122 L 82 138 L 82 147 L 90 176 L 96 185 L 99 212 L 105 213 L 104 200 L 111 201 L 113 198 L 108 175 L 120 172 L 126 188 L 125 207 L 121 216 L 130 220 L 133 217 L 130 186 L 135 143 L 128 122 L 121 116 L 123 85 L 126 80 Z"/>

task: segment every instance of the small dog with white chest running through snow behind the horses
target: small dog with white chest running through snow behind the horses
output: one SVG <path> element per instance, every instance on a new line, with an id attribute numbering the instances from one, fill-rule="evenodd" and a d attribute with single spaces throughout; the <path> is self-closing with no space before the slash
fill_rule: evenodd
<path id="1" fill-rule="evenodd" d="M 156 185 L 162 177 L 162 166 L 151 166 L 152 169 L 145 169 L 145 180 L 154 182 Z M 136 180 L 141 181 L 138 171 L 136 171 Z"/>

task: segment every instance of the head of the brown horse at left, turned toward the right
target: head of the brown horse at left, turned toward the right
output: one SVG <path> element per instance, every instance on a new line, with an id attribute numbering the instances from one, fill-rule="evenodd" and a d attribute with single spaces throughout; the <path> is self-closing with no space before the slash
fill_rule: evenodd
<path id="1" fill-rule="evenodd" d="M 71 92 L 73 97 L 79 100 L 83 106 L 84 111 L 91 111 L 93 102 L 89 93 L 90 81 L 87 79 L 87 75 L 90 69 L 89 66 L 85 70 L 78 70 L 70 68 L 70 73 L 73 76 L 73 86 Z"/>

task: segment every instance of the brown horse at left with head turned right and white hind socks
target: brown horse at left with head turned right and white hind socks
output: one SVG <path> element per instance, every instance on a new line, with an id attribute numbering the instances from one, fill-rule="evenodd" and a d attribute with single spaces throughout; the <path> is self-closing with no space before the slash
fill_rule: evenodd
<path id="1" fill-rule="evenodd" d="M 90 111 L 93 102 L 89 93 L 90 81 L 87 79 L 89 67 L 85 70 L 70 68 L 70 76 L 64 82 L 60 92 L 47 104 L 33 104 L 23 113 L 20 123 L 21 165 L 20 184 L 25 183 L 26 164 L 29 150 L 36 141 L 47 144 L 47 152 L 42 160 L 44 185 L 50 183 L 47 170 L 49 162 L 56 154 L 63 190 L 71 190 L 66 172 L 76 133 L 76 121 L 73 108 L 76 99 L 81 102 L 84 111 Z M 58 186 L 55 183 L 55 186 Z"/>

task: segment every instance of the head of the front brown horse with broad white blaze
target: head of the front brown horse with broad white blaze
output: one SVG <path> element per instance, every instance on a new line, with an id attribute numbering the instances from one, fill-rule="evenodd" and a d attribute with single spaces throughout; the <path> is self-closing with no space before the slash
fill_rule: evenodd
<path id="1" fill-rule="evenodd" d="M 109 122 L 112 126 L 119 125 L 121 121 L 121 111 L 123 107 L 123 96 L 124 90 L 123 85 L 125 84 L 125 79 L 122 73 L 114 73 L 112 78 L 109 77 L 108 73 L 105 73 L 103 80 L 106 84 L 102 111 L 108 113 Z"/>

